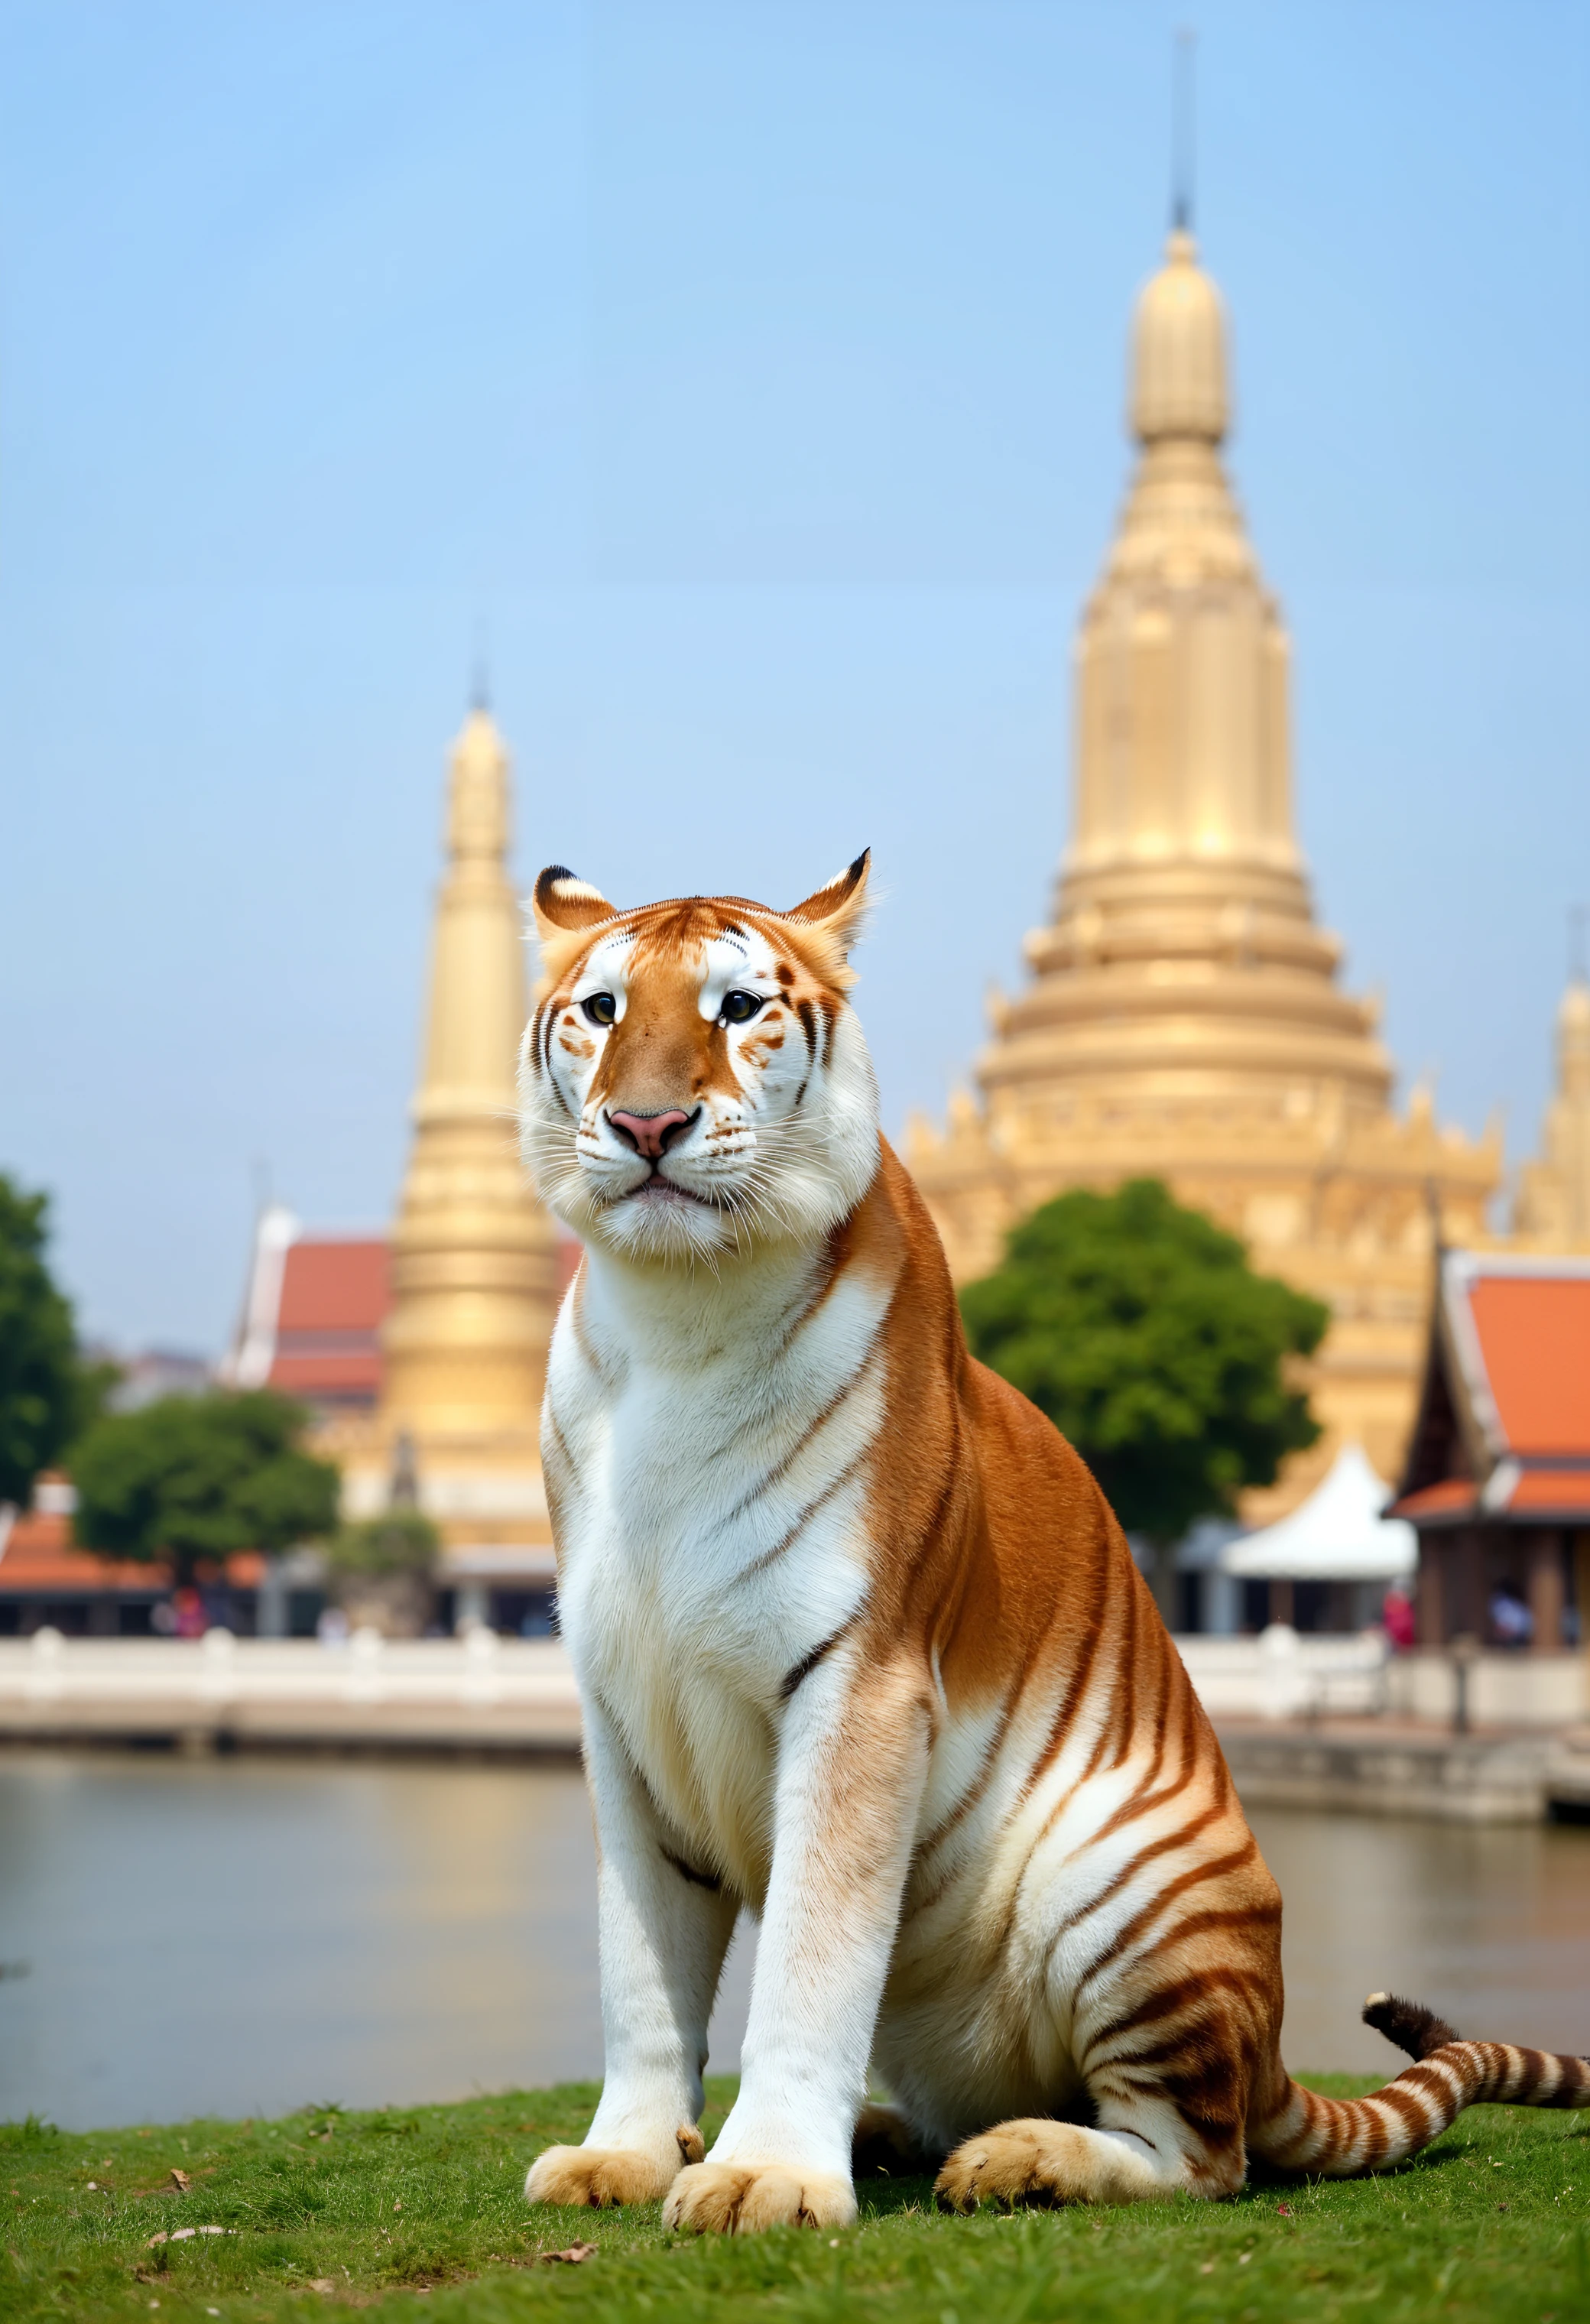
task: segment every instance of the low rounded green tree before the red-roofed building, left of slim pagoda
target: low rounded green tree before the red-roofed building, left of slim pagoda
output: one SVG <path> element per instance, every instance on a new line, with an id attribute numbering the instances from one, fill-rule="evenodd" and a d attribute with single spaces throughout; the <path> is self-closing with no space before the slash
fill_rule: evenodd
<path id="1" fill-rule="evenodd" d="M 305 1420 L 267 1387 L 109 1413 L 72 1455 L 77 1538 L 107 1557 L 170 1557 L 188 1583 L 200 1559 L 328 1534 L 337 1471 L 302 1450 Z"/>

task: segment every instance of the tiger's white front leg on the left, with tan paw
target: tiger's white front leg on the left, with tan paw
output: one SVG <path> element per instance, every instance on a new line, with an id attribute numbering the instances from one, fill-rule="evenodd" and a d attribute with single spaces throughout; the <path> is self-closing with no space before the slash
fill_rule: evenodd
<path id="1" fill-rule="evenodd" d="M 611 1734 L 586 1701 L 586 1776 L 597 1824 L 602 2103 L 579 2147 L 530 2168 L 532 2203 L 656 2203 L 700 2159 L 707 2022 L 735 1899 L 681 1852 Z"/>

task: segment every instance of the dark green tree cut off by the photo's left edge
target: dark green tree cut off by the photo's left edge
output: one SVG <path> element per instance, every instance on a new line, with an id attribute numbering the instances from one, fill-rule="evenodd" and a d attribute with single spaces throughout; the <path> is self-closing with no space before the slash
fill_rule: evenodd
<path id="1" fill-rule="evenodd" d="M 0 1501 L 21 1508 L 88 1418 L 98 1380 L 77 1360 L 72 1304 L 49 1274 L 46 1241 L 49 1197 L 0 1174 Z"/>

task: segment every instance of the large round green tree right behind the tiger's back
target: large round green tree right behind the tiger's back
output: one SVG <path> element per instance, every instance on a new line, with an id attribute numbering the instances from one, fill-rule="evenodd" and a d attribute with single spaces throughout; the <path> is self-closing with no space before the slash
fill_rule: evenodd
<path id="1" fill-rule="evenodd" d="M 1165 1613 L 1188 1527 L 1232 1513 L 1318 1436 L 1288 1357 L 1318 1348 L 1327 1308 L 1253 1274 L 1158 1178 L 1044 1204 L 960 1311 L 972 1353 L 1048 1413 L 1151 1543 Z"/>

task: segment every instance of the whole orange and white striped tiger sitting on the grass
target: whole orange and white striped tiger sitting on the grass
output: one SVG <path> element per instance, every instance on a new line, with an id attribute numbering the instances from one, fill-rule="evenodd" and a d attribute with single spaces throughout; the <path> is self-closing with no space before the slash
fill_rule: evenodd
<path id="1" fill-rule="evenodd" d="M 1383 1996 L 1406 2073 L 1355 2103 L 1288 2078 L 1281 1896 L 1209 1720 L 1093 1476 L 967 1355 L 879 1136 L 865 876 L 790 913 L 537 883 L 523 1143 L 586 1241 L 544 1466 L 607 2082 L 528 2194 L 844 2224 L 883 2147 L 958 2208 L 1218 2196 L 1251 2154 L 1371 2171 L 1476 2099 L 1590 2103 L 1581 2061 Z M 742 1906 L 742 2092 L 702 2157 Z"/>

